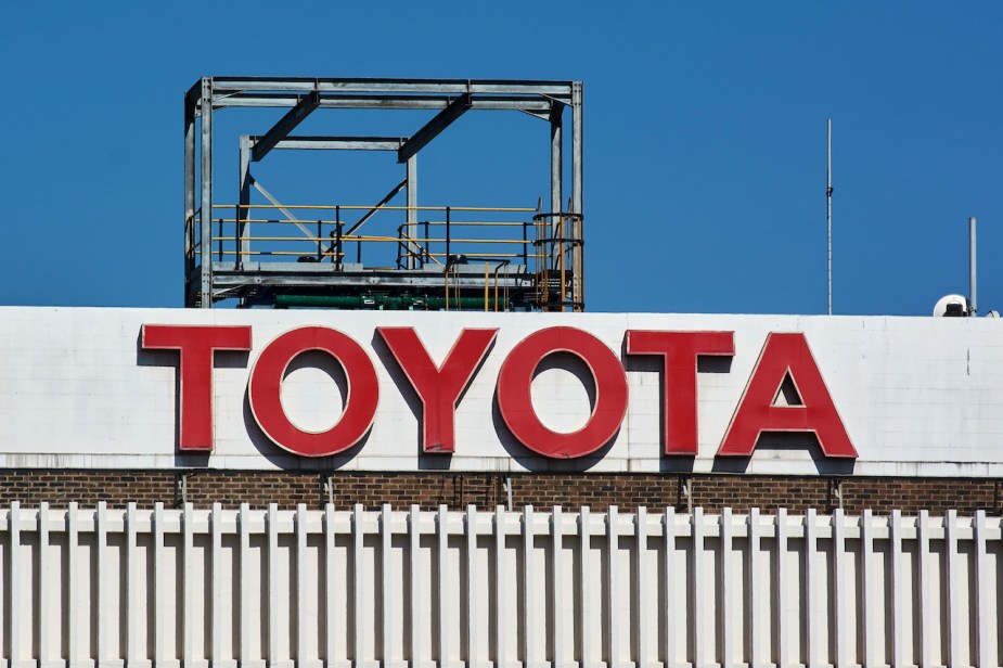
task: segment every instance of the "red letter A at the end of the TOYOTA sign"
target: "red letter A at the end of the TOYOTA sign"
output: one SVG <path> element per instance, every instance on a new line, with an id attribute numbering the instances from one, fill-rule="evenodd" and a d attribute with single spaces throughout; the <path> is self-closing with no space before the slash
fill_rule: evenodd
<path id="1" fill-rule="evenodd" d="M 802 406 L 773 404 L 788 374 Z M 857 457 L 803 334 L 767 336 L 718 454 L 750 457 L 763 432 L 811 432 L 826 457 Z"/>

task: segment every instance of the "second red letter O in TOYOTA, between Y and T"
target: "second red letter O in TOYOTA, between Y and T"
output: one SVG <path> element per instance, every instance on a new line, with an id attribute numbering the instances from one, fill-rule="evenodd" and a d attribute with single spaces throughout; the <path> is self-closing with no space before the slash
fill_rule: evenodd
<path id="1" fill-rule="evenodd" d="M 588 365 L 595 381 L 595 407 L 579 431 L 546 428 L 532 408 L 532 376 L 548 355 L 570 352 Z M 549 327 L 516 344 L 498 376 L 498 408 L 512 435 L 550 458 L 578 458 L 599 450 L 616 435 L 627 414 L 627 373 L 600 339 L 574 327 Z"/>

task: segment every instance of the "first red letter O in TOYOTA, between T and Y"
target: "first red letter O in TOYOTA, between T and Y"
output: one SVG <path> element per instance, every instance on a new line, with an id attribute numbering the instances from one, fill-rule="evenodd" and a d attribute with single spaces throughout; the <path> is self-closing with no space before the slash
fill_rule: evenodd
<path id="1" fill-rule="evenodd" d="M 325 432 L 305 432 L 282 408 L 282 378 L 293 359 L 307 350 L 321 350 L 345 370 L 348 394 L 338 421 Z M 247 385 L 250 411 L 261 431 L 277 446 L 304 457 L 325 457 L 352 447 L 365 435 L 376 415 L 380 385 L 365 350 L 329 327 L 300 327 L 271 342 L 255 361 Z"/>

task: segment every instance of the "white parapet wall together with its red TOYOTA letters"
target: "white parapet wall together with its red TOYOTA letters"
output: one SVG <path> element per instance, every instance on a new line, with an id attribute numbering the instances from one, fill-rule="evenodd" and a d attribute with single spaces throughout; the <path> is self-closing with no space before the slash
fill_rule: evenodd
<path id="1" fill-rule="evenodd" d="M 0 308 L 0 466 L 1001 478 L 1001 342 L 975 318 Z"/>

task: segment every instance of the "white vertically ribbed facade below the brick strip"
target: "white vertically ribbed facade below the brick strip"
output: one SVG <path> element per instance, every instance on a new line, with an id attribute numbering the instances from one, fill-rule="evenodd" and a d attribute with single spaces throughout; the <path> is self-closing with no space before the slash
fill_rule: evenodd
<path id="1" fill-rule="evenodd" d="M 1001 521 L 0 511 L 2 664 L 1000 666 Z"/>

